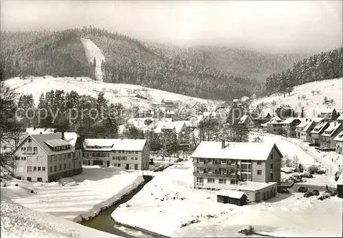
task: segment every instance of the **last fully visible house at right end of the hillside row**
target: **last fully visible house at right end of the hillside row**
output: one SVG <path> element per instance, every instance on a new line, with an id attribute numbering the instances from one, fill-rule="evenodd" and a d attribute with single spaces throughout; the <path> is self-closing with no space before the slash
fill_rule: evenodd
<path id="1" fill-rule="evenodd" d="M 343 125 L 337 122 L 330 122 L 329 127 L 319 137 L 319 148 L 321 150 L 335 150 L 335 139 L 343 131 Z"/>

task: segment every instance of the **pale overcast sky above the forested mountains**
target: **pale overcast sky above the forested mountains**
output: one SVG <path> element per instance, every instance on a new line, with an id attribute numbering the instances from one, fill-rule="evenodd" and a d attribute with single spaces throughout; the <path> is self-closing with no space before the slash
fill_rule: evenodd
<path id="1" fill-rule="evenodd" d="M 167 44 L 318 53 L 342 47 L 342 1 L 1 0 L 1 30 L 84 25 Z"/>

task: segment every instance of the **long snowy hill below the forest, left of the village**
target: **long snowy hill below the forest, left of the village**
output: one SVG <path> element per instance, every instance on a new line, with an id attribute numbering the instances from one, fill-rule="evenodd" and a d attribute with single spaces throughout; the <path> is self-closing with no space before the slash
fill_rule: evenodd
<path id="1" fill-rule="evenodd" d="M 172 98 L 175 101 L 182 101 L 193 105 L 195 103 L 217 104 L 219 101 L 211 101 L 202 98 L 194 98 L 181 94 L 175 94 L 152 88 L 144 88 L 140 85 L 123 84 L 123 83 L 104 83 L 93 81 L 88 77 L 31 77 L 29 79 L 19 79 L 15 77 L 5 81 L 6 85 L 15 88 L 19 94 L 32 94 L 34 102 L 38 105 L 39 96 L 50 90 L 64 90 L 70 92 L 72 90 L 78 92 L 79 95 L 90 95 L 97 97 L 97 93 L 104 91 L 105 98 L 110 103 L 122 103 L 124 107 L 130 105 L 139 105 L 142 108 L 149 108 L 152 103 L 161 103 L 163 98 Z M 145 98 L 138 98 L 139 94 Z"/>

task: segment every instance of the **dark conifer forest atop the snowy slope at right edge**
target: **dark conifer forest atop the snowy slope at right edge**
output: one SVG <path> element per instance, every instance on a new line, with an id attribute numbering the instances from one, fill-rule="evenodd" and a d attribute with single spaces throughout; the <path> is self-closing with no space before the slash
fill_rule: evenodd
<path id="1" fill-rule="evenodd" d="M 270 75 L 265 88 L 268 94 L 285 93 L 296 85 L 340 77 L 343 77 L 343 48 L 311 55 L 292 69 Z"/>

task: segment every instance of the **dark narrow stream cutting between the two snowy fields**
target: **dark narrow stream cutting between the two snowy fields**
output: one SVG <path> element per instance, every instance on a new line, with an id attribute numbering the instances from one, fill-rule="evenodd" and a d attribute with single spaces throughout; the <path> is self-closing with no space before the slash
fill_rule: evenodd
<path id="1" fill-rule="evenodd" d="M 134 195 L 141 191 L 141 189 L 143 189 L 144 185 L 152 180 L 152 176 L 143 176 L 143 178 L 144 182 L 136 189 L 132 190 L 130 194 L 123 196 L 123 198 L 115 202 L 115 204 L 113 204 L 112 206 L 100 211 L 98 215 L 91 218 L 90 220 L 83 220 L 82 222 L 80 222 L 80 224 L 95 228 L 97 230 L 102 230 L 113 235 L 119 235 L 121 237 L 152 237 L 151 235 L 142 233 L 140 230 L 120 226 L 116 224 L 111 217 L 111 213 L 113 213 L 113 211 L 115 211 L 115 209 L 117 209 L 120 204 L 128 202 L 128 200 L 130 200 Z"/>

